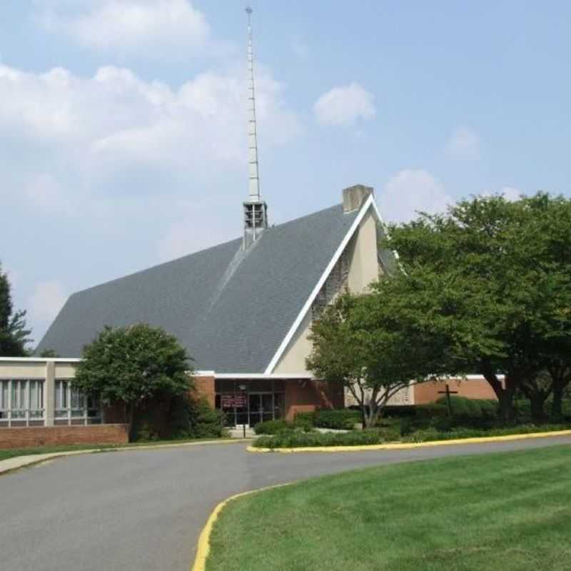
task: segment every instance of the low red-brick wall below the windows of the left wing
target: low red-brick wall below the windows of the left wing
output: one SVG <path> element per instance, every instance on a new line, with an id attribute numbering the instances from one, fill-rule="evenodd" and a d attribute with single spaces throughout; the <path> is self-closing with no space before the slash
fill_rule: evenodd
<path id="1" fill-rule="evenodd" d="M 0 429 L 0 449 L 69 444 L 126 443 L 128 443 L 128 425 L 126 424 Z"/>

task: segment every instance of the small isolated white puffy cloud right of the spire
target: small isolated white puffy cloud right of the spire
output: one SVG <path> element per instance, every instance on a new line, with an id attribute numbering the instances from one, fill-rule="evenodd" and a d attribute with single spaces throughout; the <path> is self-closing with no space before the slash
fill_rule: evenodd
<path id="1" fill-rule="evenodd" d="M 352 125 L 376 114 L 373 94 L 360 84 L 334 87 L 315 101 L 313 112 L 322 125 Z"/>

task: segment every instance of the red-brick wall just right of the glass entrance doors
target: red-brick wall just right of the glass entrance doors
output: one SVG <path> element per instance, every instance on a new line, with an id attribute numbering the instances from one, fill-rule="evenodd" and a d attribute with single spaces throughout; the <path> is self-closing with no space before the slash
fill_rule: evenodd
<path id="1" fill-rule="evenodd" d="M 311 413 L 318 408 L 343 408 L 343 385 L 318 380 L 285 381 L 285 418 Z"/>

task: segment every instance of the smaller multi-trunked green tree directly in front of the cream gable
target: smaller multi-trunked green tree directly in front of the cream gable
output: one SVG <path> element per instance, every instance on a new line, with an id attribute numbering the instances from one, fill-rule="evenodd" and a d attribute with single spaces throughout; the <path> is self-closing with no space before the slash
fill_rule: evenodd
<path id="1" fill-rule="evenodd" d="M 375 425 L 390 397 L 438 373 L 434 338 L 421 339 L 393 309 L 401 298 L 392 280 L 375 286 L 375 294 L 343 293 L 311 325 L 313 350 L 306 360 L 318 378 L 341 382 L 358 402 L 363 427 Z"/>

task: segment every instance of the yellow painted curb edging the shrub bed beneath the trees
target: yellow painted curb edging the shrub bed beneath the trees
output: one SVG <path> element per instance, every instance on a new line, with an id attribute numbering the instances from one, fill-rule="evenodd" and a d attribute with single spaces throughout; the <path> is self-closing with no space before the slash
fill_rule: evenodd
<path id="1" fill-rule="evenodd" d="M 483 444 L 505 442 L 509 440 L 527 440 L 528 438 L 547 438 L 549 436 L 569 436 L 571 430 L 556 430 L 547 433 L 509 434 L 505 436 L 482 436 L 478 438 L 455 438 L 454 440 L 430 440 L 430 442 L 402 444 L 370 444 L 363 446 L 310 446 L 307 448 L 254 448 L 248 446 L 248 452 L 278 452 L 292 454 L 298 452 L 367 452 L 369 450 L 408 450 L 410 448 L 428 448 L 429 446 L 450 446 L 453 444 Z"/>

